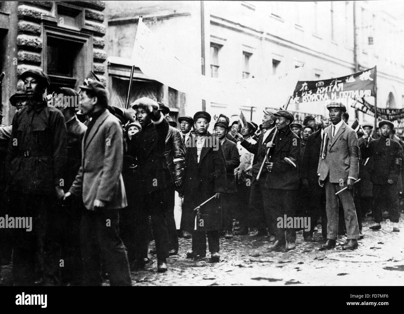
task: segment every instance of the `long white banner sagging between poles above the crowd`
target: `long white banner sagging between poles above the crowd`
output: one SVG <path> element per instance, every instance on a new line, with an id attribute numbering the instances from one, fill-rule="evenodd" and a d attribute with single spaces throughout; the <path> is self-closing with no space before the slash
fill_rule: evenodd
<path id="1" fill-rule="evenodd" d="M 139 19 L 132 60 L 153 80 L 187 94 L 236 106 L 280 107 L 295 90 L 301 68 L 265 78 L 217 79 L 189 70 Z"/>

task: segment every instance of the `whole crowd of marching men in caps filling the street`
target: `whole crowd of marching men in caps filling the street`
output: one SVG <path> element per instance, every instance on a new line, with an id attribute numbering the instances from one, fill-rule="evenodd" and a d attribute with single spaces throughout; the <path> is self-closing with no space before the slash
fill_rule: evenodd
<path id="1" fill-rule="evenodd" d="M 0 127 L 0 216 L 33 220 L 30 232 L 0 229 L 13 285 L 131 285 L 130 271 L 145 268 L 149 254 L 165 272 L 179 237 L 192 238 L 186 256 L 194 260 L 208 248 L 219 262 L 220 237 L 234 235 L 292 250 L 298 227 L 279 224 L 285 215 L 309 218 L 308 242 L 321 220 L 322 249 L 345 234 L 342 249 L 356 249 L 370 211 L 370 229 L 388 215 L 399 231 L 403 142 L 390 121 L 379 122 L 375 138 L 371 124 L 348 126 L 342 101 L 328 102 L 320 123 L 267 109 L 259 126 L 230 124 L 199 111 L 179 117 L 178 129 L 164 103 L 143 97 L 131 114 L 111 106 L 97 80 L 79 93 L 57 88 L 49 105 L 44 72 L 20 78 L 13 123 Z"/>

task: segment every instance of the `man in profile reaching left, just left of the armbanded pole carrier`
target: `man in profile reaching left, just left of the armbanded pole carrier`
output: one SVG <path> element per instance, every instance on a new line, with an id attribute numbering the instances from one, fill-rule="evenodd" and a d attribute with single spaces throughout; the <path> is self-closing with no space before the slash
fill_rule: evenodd
<path id="1" fill-rule="evenodd" d="M 267 190 L 265 188 L 265 179 L 267 176 L 267 168 L 263 167 L 259 180 L 257 179 L 258 172 L 261 168 L 261 164 L 265 159 L 267 152 L 267 143 L 271 140 L 273 132 L 275 131 L 275 116 L 276 111 L 272 109 L 264 110 L 264 117 L 262 119 L 263 131 L 254 144 L 244 140 L 242 134 L 237 134 L 237 139 L 240 140 L 240 144 L 247 151 L 254 154 L 254 161 L 252 165 L 252 181 L 250 190 L 250 226 L 252 228 L 250 236 L 260 237 L 267 236 L 268 229 L 271 229 L 273 224 L 271 217 L 268 215 L 268 211 L 265 211 L 265 207 L 269 206 L 269 200 L 266 197 Z M 274 230 L 269 230 L 269 234 L 274 234 Z"/>

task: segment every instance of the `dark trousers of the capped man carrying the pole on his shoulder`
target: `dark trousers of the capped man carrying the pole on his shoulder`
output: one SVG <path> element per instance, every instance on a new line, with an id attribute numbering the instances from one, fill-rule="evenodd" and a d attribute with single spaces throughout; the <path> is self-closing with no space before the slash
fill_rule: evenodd
<path id="1" fill-rule="evenodd" d="M 296 195 L 296 190 L 267 189 L 267 197 L 264 198 L 265 216 L 271 216 L 275 241 L 280 241 L 281 243 L 286 243 L 286 241 L 288 243 L 294 243 L 296 241 L 296 229 L 284 228 L 284 224 L 278 227 L 279 217 L 281 217 L 282 220 L 284 219 L 284 215 L 286 215 L 286 217 L 295 217 L 297 204 Z"/>

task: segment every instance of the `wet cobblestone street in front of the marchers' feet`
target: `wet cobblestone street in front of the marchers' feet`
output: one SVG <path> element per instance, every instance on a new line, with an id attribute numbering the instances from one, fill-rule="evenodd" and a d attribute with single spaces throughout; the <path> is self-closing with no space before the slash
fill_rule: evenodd
<path id="1" fill-rule="evenodd" d="M 401 232 L 392 232 L 392 226 L 385 222 L 381 230 L 369 230 L 372 221 L 366 218 L 365 237 L 353 252 L 342 251 L 338 243 L 333 250 L 320 250 L 323 243 L 321 225 L 314 234 L 316 242 L 303 242 L 302 231 L 299 231 L 296 249 L 286 253 L 268 252 L 267 237 L 222 238 L 221 261 L 216 264 L 209 262 L 210 254 L 199 262 L 186 259 L 191 240 L 180 239 L 179 255 L 168 259 L 166 273 L 158 274 L 157 263 L 150 263 L 144 271 L 132 272 L 133 285 L 404 285 L 403 218 L 402 214 Z M 343 243 L 344 239 L 339 242 Z M 347 262 L 326 257 L 335 253 L 354 253 L 357 258 L 368 258 L 373 262 Z"/>

